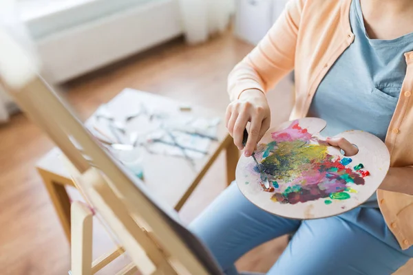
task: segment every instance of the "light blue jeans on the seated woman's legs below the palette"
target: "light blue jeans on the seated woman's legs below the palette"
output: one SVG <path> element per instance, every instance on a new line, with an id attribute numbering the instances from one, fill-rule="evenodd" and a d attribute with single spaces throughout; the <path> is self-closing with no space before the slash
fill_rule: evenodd
<path id="1" fill-rule="evenodd" d="M 326 219 L 297 221 L 269 214 L 248 201 L 235 182 L 189 225 L 222 266 L 266 241 L 295 232 L 267 274 L 388 275 L 413 257 L 401 250 L 377 208 L 355 208 Z"/>

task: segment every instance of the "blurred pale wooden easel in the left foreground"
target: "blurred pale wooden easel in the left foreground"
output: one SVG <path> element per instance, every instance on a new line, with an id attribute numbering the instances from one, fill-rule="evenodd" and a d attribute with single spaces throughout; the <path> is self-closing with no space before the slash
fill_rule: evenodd
<path id="1" fill-rule="evenodd" d="M 142 182 L 105 151 L 40 77 L 10 95 L 67 157 L 74 182 L 122 245 L 92 263 L 92 210 L 72 203 L 72 274 L 95 274 L 127 252 L 118 274 L 222 274 L 208 250 L 149 197 Z"/>

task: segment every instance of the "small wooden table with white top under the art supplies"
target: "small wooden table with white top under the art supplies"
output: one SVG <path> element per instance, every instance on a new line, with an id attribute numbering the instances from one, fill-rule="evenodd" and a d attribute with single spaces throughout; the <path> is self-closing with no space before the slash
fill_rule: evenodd
<path id="1" fill-rule="evenodd" d="M 140 102 L 145 102 L 146 106 L 155 105 L 168 113 L 182 113 L 179 108 L 182 106 L 180 102 L 133 89 L 123 90 L 107 103 L 107 107 L 117 118 L 123 117 L 127 112 L 130 113 L 130 109 L 138 106 Z M 188 114 L 204 118 L 217 116 L 222 118 L 222 113 L 195 106 L 192 106 Z M 218 142 L 212 142 L 209 153 L 205 157 L 195 159 L 195 168 L 191 168 L 187 160 L 182 157 L 144 153 L 145 184 L 157 197 L 164 199 L 179 211 L 222 151 L 226 153 L 226 181 L 230 184 L 235 179 L 239 151 L 222 122 L 218 125 Z M 70 241 L 70 198 L 65 186 L 74 187 L 74 183 L 59 158 L 61 154 L 59 148 L 53 148 L 40 159 L 36 169 L 43 179 L 63 230 Z"/>

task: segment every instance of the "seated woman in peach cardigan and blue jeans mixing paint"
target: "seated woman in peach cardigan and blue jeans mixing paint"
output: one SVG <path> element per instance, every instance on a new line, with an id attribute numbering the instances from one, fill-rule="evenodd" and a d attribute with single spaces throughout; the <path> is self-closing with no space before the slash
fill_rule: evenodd
<path id="1" fill-rule="evenodd" d="M 385 141 L 391 168 L 377 197 L 301 222 L 260 210 L 232 184 L 191 229 L 229 275 L 242 254 L 289 232 L 296 233 L 268 274 L 392 274 L 413 257 L 413 1 L 291 0 L 229 76 L 226 125 L 246 156 L 270 125 L 265 92 L 293 69 L 291 119 L 323 118 L 325 136 L 361 129 Z M 329 142 L 357 153 L 347 140 Z"/>

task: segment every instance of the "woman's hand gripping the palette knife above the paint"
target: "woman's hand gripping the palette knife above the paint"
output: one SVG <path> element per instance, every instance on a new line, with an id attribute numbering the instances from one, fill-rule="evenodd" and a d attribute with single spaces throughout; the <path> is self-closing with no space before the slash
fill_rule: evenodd
<path id="1" fill-rule="evenodd" d="M 234 139 L 234 144 L 242 150 L 242 136 L 246 124 L 251 122 L 244 155 L 251 156 L 255 146 L 270 127 L 271 111 L 266 96 L 258 89 L 243 91 L 240 98 L 226 108 L 226 128 Z"/>

